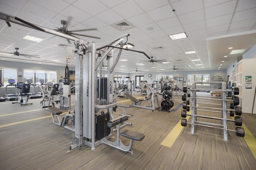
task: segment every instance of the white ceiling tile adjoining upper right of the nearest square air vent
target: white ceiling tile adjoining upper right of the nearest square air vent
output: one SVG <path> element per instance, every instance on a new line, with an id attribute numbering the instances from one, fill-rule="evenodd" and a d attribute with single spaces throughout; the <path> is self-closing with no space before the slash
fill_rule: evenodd
<path id="1" fill-rule="evenodd" d="M 130 21 L 136 27 L 154 22 L 152 18 L 150 18 L 150 16 L 146 13 L 133 16 L 131 18 L 128 18 L 127 20 Z"/>

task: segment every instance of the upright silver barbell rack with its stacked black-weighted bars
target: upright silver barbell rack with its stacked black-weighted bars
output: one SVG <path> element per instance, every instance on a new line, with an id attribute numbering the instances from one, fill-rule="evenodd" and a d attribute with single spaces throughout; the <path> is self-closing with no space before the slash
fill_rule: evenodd
<path id="1" fill-rule="evenodd" d="M 182 117 L 186 117 L 186 115 L 190 115 L 190 114 L 186 114 L 186 111 L 190 110 L 191 107 L 191 123 L 187 122 L 187 119 L 182 119 L 181 124 L 182 126 L 186 126 L 186 124 L 191 124 L 191 134 L 195 134 L 195 126 L 196 125 L 200 125 L 200 126 L 204 126 L 204 127 L 212 127 L 212 128 L 216 128 L 216 129 L 222 129 L 223 130 L 223 140 L 224 141 L 228 141 L 228 133 L 227 131 L 235 131 L 237 136 L 240 137 L 244 137 L 244 129 L 242 127 L 236 127 L 236 130 L 232 130 L 232 129 L 228 129 L 227 125 L 228 125 L 228 121 L 234 121 L 235 125 L 241 126 L 242 125 L 242 118 L 236 116 L 235 120 L 232 119 L 227 119 L 227 114 L 228 114 L 228 110 L 230 111 L 230 116 L 234 116 L 234 112 L 236 113 L 236 115 L 241 115 L 242 111 L 241 111 L 241 107 L 238 107 L 237 105 L 239 105 L 239 98 L 237 96 L 233 96 L 234 101 L 232 101 L 230 103 L 230 109 L 227 109 L 227 101 L 231 101 L 228 100 L 226 98 L 226 92 L 230 91 L 230 90 L 226 90 L 226 83 L 225 82 L 220 82 L 222 88 L 221 89 L 200 89 L 200 88 L 196 88 L 196 84 L 210 84 L 211 82 L 194 82 L 192 84 L 192 97 L 190 97 L 190 95 L 188 95 L 188 98 L 192 99 L 191 102 L 191 106 L 187 106 L 190 104 L 189 100 L 184 100 L 184 95 L 187 96 L 187 88 L 184 87 L 183 88 L 183 92 L 184 94 L 182 95 L 182 100 L 186 101 L 183 104 L 183 110 L 182 111 Z M 216 82 L 213 82 L 214 84 L 216 84 Z M 197 90 L 218 90 L 221 92 L 221 97 L 218 98 L 197 98 L 196 96 L 196 91 Z M 233 89 L 232 89 L 233 90 Z M 239 89 L 235 88 L 236 91 L 234 94 L 238 95 L 239 94 Z M 202 96 L 200 96 L 202 97 Z M 232 98 L 232 99 L 233 99 Z M 208 100 L 221 100 L 222 104 L 219 104 L 221 106 L 221 108 L 216 108 L 219 109 L 221 111 L 213 111 L 213 112 L 221 112 L 221 118 L 218 117 L 210 117 L 210 116 L 204 116 L 204 115 L 197 115 L 197 110 L 201 110 L 201 109 L 197 109 L 200 108 L 200 106 L 197 106 L 197 99 L 208 99 Z M 217 105 L 217 104 L 216 104 Z M 213 105 L 214 106 L 214 105 Z M 235 110 L 232 110 L 235 107 Z M 213 107 L 202 107 L 202 108 L 213 108 Z M 208 111 L 208 110 L 205 110 Z M 184 116 L 185 115 L 185 116 Z M 221 120 L 221 124 L 217 124 L 217 123 L 210 123 L 210 122 L 204 122 L 204 121 L 198 121 L 197 117 L 204 117 L 204 118 L 210 118 L 210 119 L 219 119 Z"/>

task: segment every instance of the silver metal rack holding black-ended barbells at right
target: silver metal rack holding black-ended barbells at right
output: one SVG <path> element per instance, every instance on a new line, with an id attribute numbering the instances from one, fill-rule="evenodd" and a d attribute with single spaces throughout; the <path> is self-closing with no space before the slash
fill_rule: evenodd
<path id="1" fill-rule="evenodd" d="M 207 82 L 209 84 L 211 82 Z M 214 82 L 216 84 L 216 82 Z M 204 84 L 204 82 L 194 82 L 192 84 L 192 89 L 191 90 L 191 97 L 190 93 L 188 93 L 188 88 L 183 87 L 183 92 L 184 94 L 182 95 L 182 101 L 183 102 L 183 110 L 181 112 L 181 125 L 182 126 L 187 126 L 187 124 L 191 125 L 191 134 L 195 134 L 195 126 L 203 126 L 203 127 L 211 127 L 211 128 L 216 128 L 216 129 L 222 129 L 223 130 L 223 140 L 228 141 L 228 133 L 227 131 L 234 131 L 236 132 L 236 135 L 239 137 L 244 137 L 244 129 L 242 127 L 237 127 L 237 126 L 242 126 L 242 117 L 240 115 L 242 114 L 242 109 L 239 105 L 239 98 L 238 96 L 232 96 L 232 98 L 227 99 L 226 97 L 226 92 L 232 92 L 234 95 L 239 94 L 239 89 L 238 88 L 232 88 L 232 89 L 226 89 L 226 82 L 220 82 L 222 85 L 221 89 L 201 89 L 201 88 L 196 88 L 196 84 Z M 211 96 L 199 96 L 196 94 L 197 91 L 199 90 L 214 90 L 214 91 L 220 91 L 221 97 L 211 97 Z M 190 100 L 192 102 L 190 102 Z M 218 102 L 221 102 L 221 104 L 213 104 L 213 103 L 205 103 L 205 102 L 197 102 L 196 100 L 216 100 Z M 227 102 L 230 102 L 228 105 Z M 203 104 L 203 105 L 209 105 L 209 107 L 205 106 L 198 106 L 198 104 Z M 215 106 L 215 107 L 214 107 Z M 219 107 L 216 107 L 219 106 Z M 228 109 L 227 106 L 230 108 Z M 221 107 L 221 108 L 220 108 Z M 191 114 L 187 113 L 187 111 L 191 110 Z M 204 111 L 204 112 L 214 112 L 214 113 L 220 113 L 221 117 L 212 117 L 212 116 L 206 116 L 206 115 L 197 115 L 197 111 Z M 236 114 L 234 119 L 228 119 L 227 115 L 230 114 L 231 117 Z M 191 116 L 191 122 L 188 122 L 186 116 Z M 221 123 L 210 123 L 206 121 L 198 121 L 197 118 L 206 118 L 206 119 L 216 119 L 220 120 Z M 228 129 L 228 121 L 234 122 L 236 128 L 235 129 Z"/>

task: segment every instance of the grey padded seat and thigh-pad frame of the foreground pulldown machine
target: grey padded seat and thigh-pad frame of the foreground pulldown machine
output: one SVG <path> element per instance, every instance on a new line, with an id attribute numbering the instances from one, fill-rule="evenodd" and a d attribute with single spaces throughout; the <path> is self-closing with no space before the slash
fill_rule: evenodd
<path id="1" fill-rule="evenodd" d="M 142 139 L 144 139 L 145 135 L 142 133 L 139 133 L 139 132 L 129 131 L 127 129 L 124 130 L 122 133 L 120 133 L 120 123 L 122 123 L 128 119 L 129 119 L 129 117 L 127 115 L 123 115 L 123 116 L 120 116 L 120 117 L 117 117 L 115 119 L 108 121 L 108 123 L 107 123 L 108 127 L 116 126 L 116 141 L 111 142 L 111 141 L 108 141 L 108 139 L 104 138 L 103 143 L 108 146 L 114 147 L 116 149 L 122 150 L 124 152 L 130 152 L 131 154 L 133 154 L 132 146 L 133 146 L 134 140 L 142 141 Z M 120 135 L 130 139 L 129 146 L 126 146 L 122 143 L 122 141 L 120 139 Z"/>

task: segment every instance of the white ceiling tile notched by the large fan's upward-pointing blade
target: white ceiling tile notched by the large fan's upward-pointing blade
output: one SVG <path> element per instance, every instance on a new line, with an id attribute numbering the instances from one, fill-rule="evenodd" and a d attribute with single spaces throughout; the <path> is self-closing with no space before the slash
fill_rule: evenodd
<path id="1" fill-rule="evenodd" d="M 78 22 L 84 21 L 91 17 L 91 15 L 89 15 L 88 13 L 86 13 L 72 5 L 68 6 L 68 8 L 65 8 L 64 10 L 62 10 L 60 12 L 60 14 L 63 16 L 66 16 L 66 17 L 71 16 L 72 20 L 78 21 Z"/>

